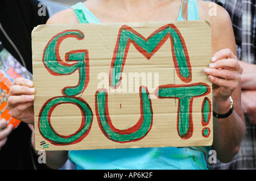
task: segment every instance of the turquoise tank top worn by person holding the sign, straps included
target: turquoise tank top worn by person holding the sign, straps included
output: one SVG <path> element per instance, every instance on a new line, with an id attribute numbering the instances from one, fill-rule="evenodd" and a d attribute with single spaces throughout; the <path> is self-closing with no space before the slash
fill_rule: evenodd
<path id="1" fill-rule="evenodd" d="M 83 3 L 72 6 L 80 23 L 101 23 Z M 198 20 L 197 1 L 182 3 L 177 20 Z M 76 169 L 208 169 L 211 146 L 71 150 Z"/>

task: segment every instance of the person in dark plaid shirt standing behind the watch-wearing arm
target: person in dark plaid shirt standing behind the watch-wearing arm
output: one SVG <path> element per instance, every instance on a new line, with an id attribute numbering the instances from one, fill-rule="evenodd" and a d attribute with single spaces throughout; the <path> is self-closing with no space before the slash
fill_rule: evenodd
<path id="1" fill-rule="evenodd" d="M 229 12 L 237 54 L 243 68 L 241 103 L 246 132 L 241 148 L 230 163 L 217 162 L 213 169 L 256 169 L 256 5 L 254 0 L 212 0 Z"/>

